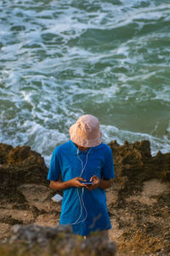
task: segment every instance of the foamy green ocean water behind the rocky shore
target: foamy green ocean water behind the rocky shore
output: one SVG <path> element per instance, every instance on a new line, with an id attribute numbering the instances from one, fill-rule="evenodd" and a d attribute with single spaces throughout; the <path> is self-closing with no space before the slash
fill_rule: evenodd
<path id="1" fill-rule="evenodd" d="M 104 143 L 170 151 L 169 0 L 0 2 L 0 142 L 48 165 L 85 113 Z"/>

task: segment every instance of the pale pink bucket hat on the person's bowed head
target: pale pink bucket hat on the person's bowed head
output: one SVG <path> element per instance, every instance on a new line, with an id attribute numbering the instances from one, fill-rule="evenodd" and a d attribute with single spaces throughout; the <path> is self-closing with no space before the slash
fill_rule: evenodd
<path id="1" fill-rule="evenodd" d="M 95 147 L 101 143 L 102 132 L 99 129 L 99 119 L 94 115 L 85 114 L 70 127 L 71 141 L 82 147 Z"/>

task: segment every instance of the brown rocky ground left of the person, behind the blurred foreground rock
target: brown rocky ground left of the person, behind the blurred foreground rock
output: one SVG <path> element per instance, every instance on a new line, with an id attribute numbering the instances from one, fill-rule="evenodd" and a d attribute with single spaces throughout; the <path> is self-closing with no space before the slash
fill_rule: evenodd
<path id="1" fill-rule="evenodd" d="M 9 225 L 42 224 L 44 216 L 46 225 L 57 224 L 60 203 L 51 200 L 55 192 L 47 175 L 42 156 L 30 147 L 0 143 L 0 241 L 8 236 Z"/>

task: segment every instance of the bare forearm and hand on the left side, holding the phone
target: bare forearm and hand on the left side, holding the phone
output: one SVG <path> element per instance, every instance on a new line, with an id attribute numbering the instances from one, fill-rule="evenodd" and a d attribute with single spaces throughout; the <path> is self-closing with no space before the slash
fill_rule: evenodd
<path id="1" fill-rule="evenodd" d="M 50 180 L 49 187 L 54 190 L 64 190 L 64 189 L 69 189 L 71 187 L 77 187 L 77 188 L 85 187 L 85 184 L 81 183 L 80 181 L 86 181 L 86 180 L 82 177 L 75 177 L 66 182 Z"/>

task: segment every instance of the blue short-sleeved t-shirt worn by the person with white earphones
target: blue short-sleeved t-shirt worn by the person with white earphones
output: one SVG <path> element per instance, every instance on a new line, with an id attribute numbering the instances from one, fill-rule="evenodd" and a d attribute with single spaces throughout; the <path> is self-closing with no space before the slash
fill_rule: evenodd
<path id="1" fill-rule="evenodd" d="M 115 177 L 111 148 L 101 143 L 82 152 L 77 151 L 77 146 L 71 140 L 60 145 L 54 149 L 48 180 L 59 180 L 60 174 L 63 182 L 74 177 L 83 177 L 89 181 L 94 175 L 104 179 Z M 88 236 L 96 230 L 111 229 L 105 189 L 90 191 L 85 188 L 83 192 L 82 188 L 65 189 L 59 224 L 71 224 L 73 233 L 81 236 Z"/>

